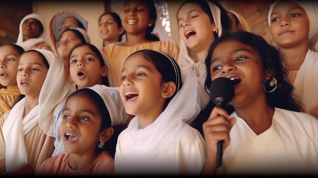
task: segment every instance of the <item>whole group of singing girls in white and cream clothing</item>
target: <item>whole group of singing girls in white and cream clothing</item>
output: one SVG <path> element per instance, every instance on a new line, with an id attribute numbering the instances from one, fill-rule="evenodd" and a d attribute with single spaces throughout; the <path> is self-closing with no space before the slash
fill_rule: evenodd
<path id="1" fill-rule="evenodd" d="M 1 96 L 0 173 L 317 174 L 318 53 L 309 49 L 317 10 L 274 2 L 277 47 L 233 31 L 228 12 L 205 0 L 178 9 L 180 48 L 151 34 L 153 2 L 131 0 L 117 26 L 111 14 L 99 19 L 103 35 L 113 25 L 124 43 L 101 50 L 69 27 L 57 55 L 1 46 L 0 83 L 10 93 Z M 220 77 L 239 81 L 228 108 L 210 99 Z"/>

